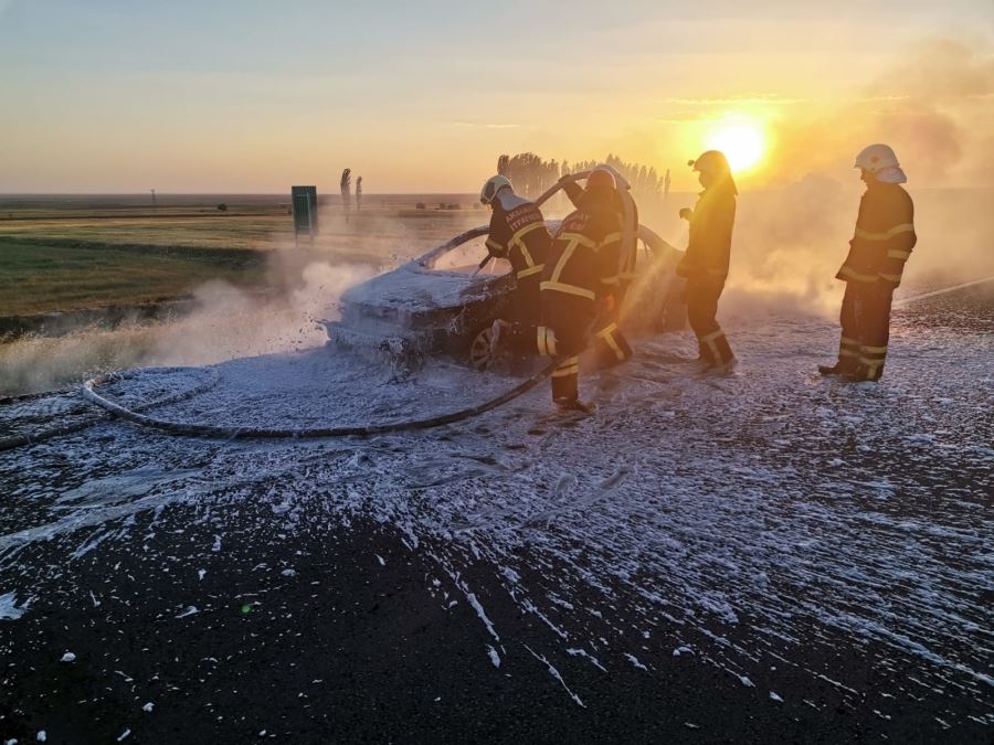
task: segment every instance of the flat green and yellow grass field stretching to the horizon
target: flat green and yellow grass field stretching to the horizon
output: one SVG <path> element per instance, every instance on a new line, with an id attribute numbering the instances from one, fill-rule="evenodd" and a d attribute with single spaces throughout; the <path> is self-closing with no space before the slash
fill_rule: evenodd
<path id="1" fill-rule="evenodd" d="M 380 266 L 486 221 L 478 210 L 414 210 L 415 195 L 350 215 L 322 210 L 320 235 L 296 247 L 286 205 L 250 198 L 221 212 L 222 199 L 158 209 L 127 198 L 0 199 L 0 318 L 161 302 L 210 280 L 285 289 L 287 266 Z M 275 253 L 279 269 L 267 272 Z"/>

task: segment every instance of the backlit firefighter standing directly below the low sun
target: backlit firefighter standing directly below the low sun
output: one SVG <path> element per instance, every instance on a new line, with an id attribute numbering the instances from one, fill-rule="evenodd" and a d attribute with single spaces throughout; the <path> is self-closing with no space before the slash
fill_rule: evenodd
<path id="1" fill-rule="evenodd" d="M 716 316 L 728 277 L 739 192 L 725 153 L 708 150 L 688 164 L 700 173 L 705 190 L 694 210 L 680 210 L 680 217 L 690 223 L 690 241 L 676 273 L 687 279 L 687 318 L 697 334 L 699 361 L 707 369 L 727 369 L 736 358 Z"/>

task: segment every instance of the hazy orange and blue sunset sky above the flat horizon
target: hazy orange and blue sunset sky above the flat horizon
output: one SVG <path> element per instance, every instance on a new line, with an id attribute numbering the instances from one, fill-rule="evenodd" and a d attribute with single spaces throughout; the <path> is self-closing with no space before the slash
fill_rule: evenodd
<path id="1" fill-rule="evenodd" d="M 501 152 L 994 184 L 994 1 L 0 0 L 0 192 L 467 192 Z M 919 181 L 920 183 L 921 181 Z"/>

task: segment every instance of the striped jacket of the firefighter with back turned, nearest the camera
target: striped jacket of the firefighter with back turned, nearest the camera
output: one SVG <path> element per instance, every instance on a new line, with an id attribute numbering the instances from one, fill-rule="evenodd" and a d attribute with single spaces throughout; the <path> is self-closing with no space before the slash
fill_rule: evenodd
<path id="1" fill-rule="evenodd" d="M 622 220 L 610 201 L 588 195 L 581 203 L 556 232 L 541 289 L 543 298 L 585 298 L 592 306 L 616 287 Z"/>

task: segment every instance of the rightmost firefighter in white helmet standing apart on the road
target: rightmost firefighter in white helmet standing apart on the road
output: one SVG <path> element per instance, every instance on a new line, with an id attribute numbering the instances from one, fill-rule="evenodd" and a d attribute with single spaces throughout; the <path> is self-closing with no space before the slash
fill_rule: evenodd
<path id="1" fill-rule="evenodd" d="M 838 361 L 819 365 L 818 372 L 876 382 L 887 358 L 893 290 L 918 238 L 914 205 L 900 187 L 908 179 L 893 150 L 870 145 L 856 157 L 855 168 L 860 169 L 866 192 L 859 200 L 849 255 L 835 275 L 846 283 Z"/>

